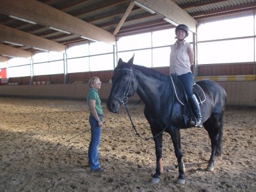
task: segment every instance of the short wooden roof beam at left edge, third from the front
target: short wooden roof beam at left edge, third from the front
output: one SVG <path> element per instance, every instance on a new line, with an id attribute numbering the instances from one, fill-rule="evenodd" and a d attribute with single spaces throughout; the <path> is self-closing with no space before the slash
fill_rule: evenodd
<path id="1" fill-rule="evenodd" d="M 17 49 L 8 45 L 0 44 L 0 54 L 2 56 L 13 57 L 13 58 L 31 58 L 32 53 L 29 51 L 24 51 L 22 49 Z"/>

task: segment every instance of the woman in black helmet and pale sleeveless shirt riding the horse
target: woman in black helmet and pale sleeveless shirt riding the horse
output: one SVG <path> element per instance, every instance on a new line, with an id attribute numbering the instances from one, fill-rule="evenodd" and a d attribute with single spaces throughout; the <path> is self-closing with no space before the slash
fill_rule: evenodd
<path id="1" fill-rule="evenodd" d="M 202 115 L 198 100 L 193 93 L 194 77 L 191 72 L 191 65 L 194 63 L 194 51 L 192 46 L 185 41 L 188 31 L 188 26 L 184 24 L 175 28 L 177 41 L 171 45 L 170 74 L 176 74 L 186 90 L 189 104 L 196 118 L 196 122 L 191 120 L 190 124 L 201 128 Z"/>

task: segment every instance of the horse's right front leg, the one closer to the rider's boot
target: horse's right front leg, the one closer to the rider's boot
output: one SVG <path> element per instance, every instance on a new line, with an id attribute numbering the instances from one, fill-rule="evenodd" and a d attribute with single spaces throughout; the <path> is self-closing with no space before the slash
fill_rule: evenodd
<path id="1" fill-rule="evenodd" d="M 182 160 L 182 151 L 180 147 L 180 130 L 179 129 L 172 129 L 172 132 L 170 133 L 172 137 L 172 143 L 175 150 L 175 156 L 177 157 L 178 165 L 179 165 L 179 177 L 177 180 L 178 184 L 184 184 L 185 183 L 185 172 L 186 168 L 184 165 L 184 162 Z"/>

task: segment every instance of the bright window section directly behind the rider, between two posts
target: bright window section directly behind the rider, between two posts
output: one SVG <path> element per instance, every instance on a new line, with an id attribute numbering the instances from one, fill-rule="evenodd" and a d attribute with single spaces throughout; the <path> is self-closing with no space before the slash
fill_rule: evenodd
<path id="1" fill-rule="evenodd" d="M 186 40 L 193 42 L 192 33 L 189 33 Z M 123 61 L 127 62 L 135 54 L 134 63 L 138 65 L 145 67 L 166 67 L 170 65 L 170 45 L 174 44 L 175 41 L 175 28 L 125 36 L 117 42 L 118 59 L 122 58 Z"/>

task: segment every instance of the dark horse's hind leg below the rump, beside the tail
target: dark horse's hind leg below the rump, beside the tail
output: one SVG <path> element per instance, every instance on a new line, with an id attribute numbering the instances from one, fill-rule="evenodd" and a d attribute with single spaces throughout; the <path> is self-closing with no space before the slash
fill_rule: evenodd
<path id="1" fill-rule="evenodd" d="M 221 155 L 221 140 L 223 134 L 223 114 L 213 114 L 205 123 L 204 127 L 207 130 L 211 139 L 211 157 L 207 166 L 207 171 L 214 170 L 215 156 Z"/>

